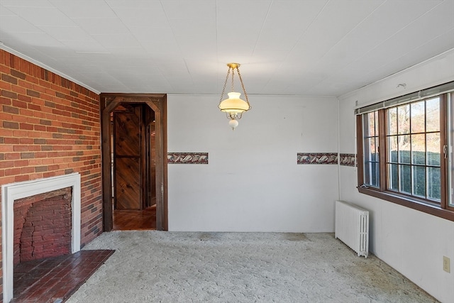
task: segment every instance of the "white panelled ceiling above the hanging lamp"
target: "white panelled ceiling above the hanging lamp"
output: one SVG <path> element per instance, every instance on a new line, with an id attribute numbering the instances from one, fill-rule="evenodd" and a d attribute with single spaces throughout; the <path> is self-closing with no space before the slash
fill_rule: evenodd
<path id="1" fill-rule="evenodd" d="M 248 94 L 340 96 L 454 48 L 454 1 L 0 0 L 0 41 L 97 92 L 220 94 L 239 62 Z"/>

